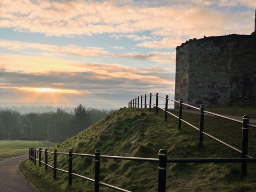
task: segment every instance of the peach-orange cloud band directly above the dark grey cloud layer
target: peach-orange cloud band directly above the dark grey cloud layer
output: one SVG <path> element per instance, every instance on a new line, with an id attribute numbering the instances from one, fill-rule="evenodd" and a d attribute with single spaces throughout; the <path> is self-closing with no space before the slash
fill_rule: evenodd
<path id="1" fill-rule="evenodd" d="M 151 56 L 153 57 L 153 56 Z M 154 56 L 154 59 L 159 59 Z M 116 78 L 124 78 L 124 79 L 137 79 L 140 82 L 147 83 L 162 83 L 165 84 L 173 84 L 173 82 L 162 79 L 159 76 L 147 75 L 146 73 L 152 72 L 158 73 L 156 69 L 159 70 L 159 73 L 162 73 L 164 69 L 161 68 L 146 68 L 146 69 L 137 69 L 133 67 L 125 67 L 118 64 L 112 65 L 97 65 L 94 63 L 69 63 L 63 60 L 51 59 L 51 58 L 41 58 L 41 57 L 29 57 L 29 56 L 21 56 L 21 55 L 6 55 L 6 57 L 1 57 L 0 66 L 3 71 L 10 73 L 15 73 L 18 77 L 18 74 L 38 74 L 37 78 L 39 81 L 43 81 L 40 75 L 49 75 L 59 76 L 58 74 L 62 74 L 63 77 L 68 78 L 69 76 L 81 76 L 81 73 L 84 73 L 86 78 L 88 79 L 116 79 Z M 49 64 L 48 64 L 49 63 Z M 165 69 L 166 70 L 166 69 Z M 169 69 L 169 73 L 172 69 Z M 168 72 L 167 72 L 168 73 Z M 66 75 L 65 75 L 66 74 Z M 65 76 L 64 76 L 65 75 Z M 10 79 L 14 78 L 11 76 L 2 77 L 3 83 L 7 83 Z M 14 78 L 18 79 L 18 78 Z M 21 78 L 18 82 L 22 84 L 26 84 L 28 82 L 24 82 L 24 79 Z M 46 78 L 48 79 L 48 78 Z M 87 80 L 88 80 L 87 79 Z M 86 80 L 86 81 L 87 81 Z M 13 80 L 10 80 L 13 81 Z M 37 82 L 33 79 L 31 81 L 33 83 Z M 12 82 L 13 83 L 13 82 Z M 52 84 L 60 85 L 62 81 L 55 81 Z M 41 85 L 42 86 L 42 85 Z"/>

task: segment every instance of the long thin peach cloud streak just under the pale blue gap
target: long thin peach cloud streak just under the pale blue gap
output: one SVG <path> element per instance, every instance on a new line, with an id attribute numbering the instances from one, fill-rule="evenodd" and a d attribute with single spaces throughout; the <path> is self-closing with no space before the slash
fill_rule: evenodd
<path id="1" fill-rule="evenodd" d="M 146 46 L 148 44 L 149 47 L 156 46 L 154 43 L 146 42 L 138 44 L 137 46 Z M 158 42 L 159 47 L 164 47 L 168 44 L 168 41 L 166 39 L 163 39 L 162 43 Z M 6 41 L 3 39 L 0 39 L 0 47 L 3 47 L 5 49 L 14 50 L 14 51 L 20 51 L 22 53 L 26 54 L 32 54 L 35 55 L 36 60 L 38 60 L 39 63 L 45 62 L 50 63 L 52 62 L 51 66 L 53 66 L 53 63 L 55 65 L 55 68 L 59 68 L 60 66 L 58 63 L 63 64 L 63 58 L 68 58 L 68 56 L 78 56 L 78 57 L 108 57 L 108 58 L 130 58 L 130 59 L 137 59 L 137 60 L 151 60 L 159 63 L 174 63 L 173 60 L 173 53 L 162 53 L 162 52 L 150 52 L 148 54 L 139 54 L 139 53 L 120 53 L 120 54 L 114 54 L 110 53 L 108 51 L 105 51 L 101 47 L 79 47 L 75 45 L 68 45 L 68 46 L 57 46 L 57 45 L 49 45 L 49 44 L 39 44 L 39 43 L 28 43 L 28 42 L 20 42 L 20 41 Z M 116 47 L 115 49 L 124 49 L 123 47 Z M 39 55 L 39 56 L 38 56 Z M 171 55 L 171 57 L 167 57 L 168 55 Z M 41 57 L 42 58 L 41 58 Z M 3 61 L 0 62 L 0 65 L 2 63 L 13 63 L 14 60 L 19 60 L 19 55 L 10 55 L 9 57 L 3 58 Z M 40 57 L 40 59 L 39 59 Z M 51 59 L 50 59 L 51 57 Z M 29 58 L 29 57 L 27 57 Z M 158 58 L 158 60 L 156 59 Z M 23 56 L 23 59 L 25 60 L 25 63 L 23 65 L 26 65 L 29 59 L 26 59 L 26 56 Z M 62 61 L 59 61 L 59 60 Z M 52 61 L 50 61 L 52 60 Z M 31 61 L 30 61 L 31 62 Z M 50 66 L 50 67 L 51 67 Z M 35 68 L 34 66 L 33 68 Z M 47 68 L 47 64 L 45 64 L 45 67 Z M 16 68 L 19 68 L 16 66 Z M 32 68 L 32 69 L 33 69 Z M 70 69 L 69 63 L 66 61 L 65 70 Z"/>

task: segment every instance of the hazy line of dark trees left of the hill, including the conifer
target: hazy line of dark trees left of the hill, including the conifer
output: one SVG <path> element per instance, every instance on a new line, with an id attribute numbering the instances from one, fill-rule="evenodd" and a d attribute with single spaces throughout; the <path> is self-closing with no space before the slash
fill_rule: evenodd
<path id="1" fill-rule="evenodd" d="M 63 141 L 104 118 L 109 111 L 86 109 L 81 104 L 73 111 L 20 114 L 0 109 L 0 140 Z"/>

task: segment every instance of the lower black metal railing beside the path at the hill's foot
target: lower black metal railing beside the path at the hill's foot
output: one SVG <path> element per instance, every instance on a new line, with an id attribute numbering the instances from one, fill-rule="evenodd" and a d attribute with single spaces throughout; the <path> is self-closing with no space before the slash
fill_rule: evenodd
<path id="1" fill-rule="evenodd" d="M 42 161 L 42 153 L 45 153 L 45 162 Z M 48 164 L 48 154 L 53 154 L 53 165 Z M 38 158 L 37 158 L 38 155 Z M 62 170 L 57 167 L 57 155 L 67 155 L 68 170 Z M 84 157 L 94 157 L 95 169 L 94 169 L 94 179 L 87 178 L 84 175 L 79 175 L 73 172 L 73 156 L 84 156 Z M 159 158 L 143 158 L 143 157 L 124 157 L 124 156 L 109 156 L 100 155 L 100 149 L 95 149 L 95 154 L 78 154 L 73 153 L 73 149 L 69 149 L 68 153 L 58 153 L 57 149 L 53 152 L 47 151 L 47 148 L 43 150 L 42 148 L 37 149 L 29 148 L 29 160 L 36 165 L 39 162 L 39 166 L 45 165 L 45 170 L 48 167 L 53 170 L 53 180 L 57 179 L 57 171 L 68 174 L 68 185 L 72 185 L 73 176 L 79 177 L 91 182 L 94 182 L 94 191 L 99 192 L 100 186 L 105 186 L 118 191 L 131 192 L 130 190 L 122 189 L 113 185 L 100 181 L 100 159 L 101 158 L 112 158 L 121 159 L 129 161 L 142 161 L 142 162 L 155 162 L 158 163 L 158 192 L 166 191 L 166 167 L 167 163 L 247 163 L 256 162 L 256 158 L 170 158 L 167 159 L 167 151 L 165 149 L 160 149 L 158 151 Z M 82 163 L 82 162 L 81 162 Z"/>

